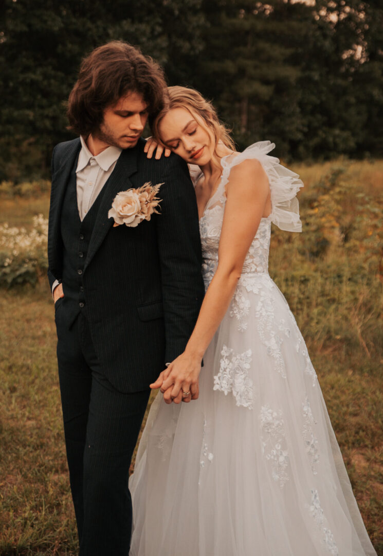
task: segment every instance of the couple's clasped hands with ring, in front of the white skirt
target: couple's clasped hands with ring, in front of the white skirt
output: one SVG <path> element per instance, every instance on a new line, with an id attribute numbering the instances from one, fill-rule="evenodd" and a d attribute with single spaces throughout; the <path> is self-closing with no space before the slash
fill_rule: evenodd
<path id="1" fill-rule="evenodd" d="M 167 404 L 174 401 L 188 403 L 199 396 L 198 379 L 201 371 L 201 359 L 182 353 L 167 369 L 160 373 L 158 379 L 150 384 L 153 390 L 160 388 Z"/>

